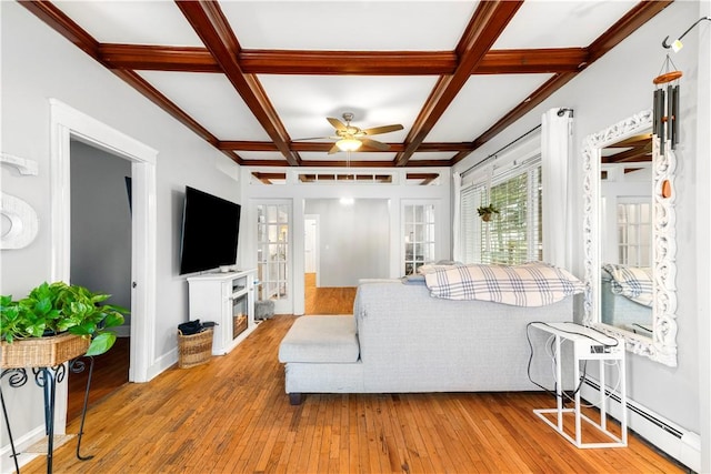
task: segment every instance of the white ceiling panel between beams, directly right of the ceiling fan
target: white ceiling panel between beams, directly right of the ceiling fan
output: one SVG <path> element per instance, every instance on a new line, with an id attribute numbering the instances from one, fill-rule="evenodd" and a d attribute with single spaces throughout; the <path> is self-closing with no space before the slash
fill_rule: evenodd
<path id="1" fill-rule="evenodd" d="M 425 142 L 474 140 L 550 78 L 551 74 L 472 75 Z"/>

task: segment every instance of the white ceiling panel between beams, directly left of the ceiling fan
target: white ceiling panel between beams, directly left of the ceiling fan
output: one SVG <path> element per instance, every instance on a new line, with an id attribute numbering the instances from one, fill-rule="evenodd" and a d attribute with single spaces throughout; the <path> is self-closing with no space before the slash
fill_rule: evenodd
<path id="1" fill-rule="evenodd" d="M 158 71 L 141 71 L 140 75 L 219 140 L 269 141 L 224 75 Z"/>

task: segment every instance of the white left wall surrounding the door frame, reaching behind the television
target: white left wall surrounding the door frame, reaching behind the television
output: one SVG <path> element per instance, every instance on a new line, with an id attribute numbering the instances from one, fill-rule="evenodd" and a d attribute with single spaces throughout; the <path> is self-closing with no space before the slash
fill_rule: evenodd
<path id="1" fill-rule="evenodd" d="M 39 164 L 37 177 L 21 177 L 16 169 L 3 165 L 2 191 L 26 200 L 40 220 L 39 234 L 29 246 L 0 253 L 0 292 L 21 297 L 51 274 L 49 100 L 54 98 L 159 152 L 158 307 L 149 314 L 156 320 L 149 365 L 163 366 L 176 357 L 177 325 L 188 320 L 188 284 L 178 275 L 184 186 L 239 202 L 239 183 L 218 170 L 233 164 L 18 3 L 0 2 L 0 14 L 1 150 Z M 3 391 L 16 438 L 42 426 L 39 392 L 32 384 Z"/>

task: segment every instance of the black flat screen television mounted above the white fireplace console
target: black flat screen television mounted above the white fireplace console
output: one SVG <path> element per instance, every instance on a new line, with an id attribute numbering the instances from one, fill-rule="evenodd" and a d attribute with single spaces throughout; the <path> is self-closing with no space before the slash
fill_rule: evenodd
<path id="1" fill-rule="evenodd" d="M 241 206 L 186 186 L 180 274 L 216 270 L 237 262 Z"/>

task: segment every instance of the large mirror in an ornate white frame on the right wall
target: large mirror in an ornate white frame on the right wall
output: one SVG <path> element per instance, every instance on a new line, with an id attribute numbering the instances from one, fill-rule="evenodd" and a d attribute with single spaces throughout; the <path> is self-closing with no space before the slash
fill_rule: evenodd
<path id="1" fill-rule="evenodd" d="M 648 110 L 583 143 L 583 322 L 675 366 L 675 157 L 651 129 Z"/>

